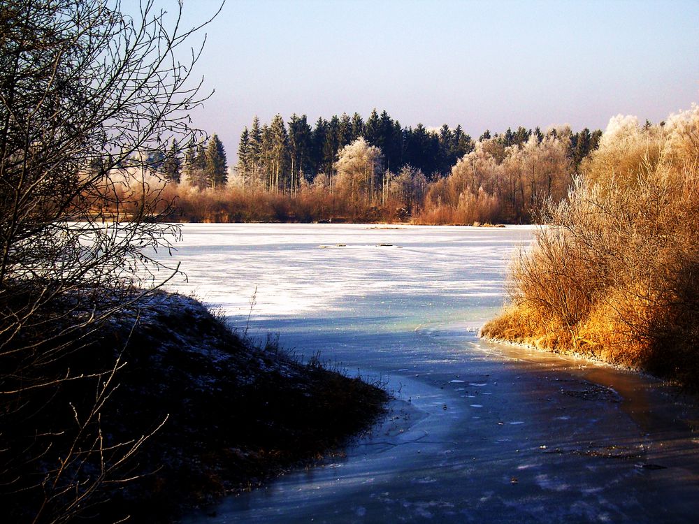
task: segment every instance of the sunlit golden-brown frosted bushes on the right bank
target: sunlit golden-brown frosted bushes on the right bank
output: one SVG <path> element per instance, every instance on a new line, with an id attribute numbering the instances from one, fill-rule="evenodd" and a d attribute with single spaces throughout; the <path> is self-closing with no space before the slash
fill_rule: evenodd
<path id="1" fill-rule="evenodd" d="M 610 121 L 482 335 L 699 386 L 699 108 Z"/>

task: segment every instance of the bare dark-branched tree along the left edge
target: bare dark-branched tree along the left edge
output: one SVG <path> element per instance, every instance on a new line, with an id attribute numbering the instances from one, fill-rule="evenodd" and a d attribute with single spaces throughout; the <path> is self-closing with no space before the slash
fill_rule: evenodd
<path id="1" fill-rule="evenodd" d="M 149 253 L 178 235 L 154 159 L 200 134 L 188 111 L 206 97 L 190 78 L 201 26 L 175 6 L 0 3 L 0 494 L 35 504 L 10 520 L 75 516 L 142 442 L 100 430 L 122 361 L 82 356 L 157 286 Z"/>

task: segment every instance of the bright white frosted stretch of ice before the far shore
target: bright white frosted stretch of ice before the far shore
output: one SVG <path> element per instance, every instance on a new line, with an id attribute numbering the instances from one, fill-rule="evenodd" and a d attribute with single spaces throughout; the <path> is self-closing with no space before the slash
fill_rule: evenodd
<path id="1" fill-rule="evenodd" d="M 462 227 L 186 224 L 175 257 L 189 283 L 175 285 L 233 316 L 247 316 L 257 289 L 257 320 L 313 318 L 319 310 L 403 315 L 406 296 L 413 309 L 435 316 L 438 308 L 463 307 L 464 298 L 499 305 L 507 254 L 528 236 L 526 227 L 503 235 Z M 381 243 L 402 249 L 377 247 Z M 345 247 L 320 247 L 338 244 Z"/>

